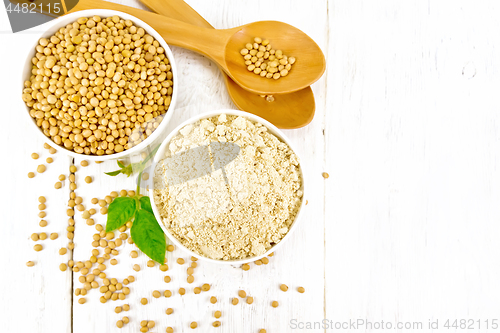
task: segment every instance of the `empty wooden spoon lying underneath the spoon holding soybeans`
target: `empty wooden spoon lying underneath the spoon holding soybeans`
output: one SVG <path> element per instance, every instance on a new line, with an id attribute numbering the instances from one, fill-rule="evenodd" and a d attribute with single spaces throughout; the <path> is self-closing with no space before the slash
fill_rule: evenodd
<path id="1" fill-rule="evenodd" d="M 213 27 L 183 0 L 141 0 L 153 12 L 205 28 Z M 315 103 L 311 87 L 282 95 L 273 95 L 274 101 L 251 93 L 234 83 L 224 71 L 222 76 L 229 96 L 241 110 L 262 117 L 278 128 L 292 129 L 306 126 L 314 117 Z M 271 98 L 271 97 L 270 97 Z"/>

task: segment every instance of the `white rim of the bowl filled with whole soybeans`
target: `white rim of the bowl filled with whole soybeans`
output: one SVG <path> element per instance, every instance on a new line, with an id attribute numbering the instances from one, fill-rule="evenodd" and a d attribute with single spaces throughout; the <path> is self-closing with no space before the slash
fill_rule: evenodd
<path id="1" fill-rule="evenodd" d="M 38 45 L 38 42 L 41 38 L 50 38 L 50 36 L 54 35 L 60 28 L 65 27 L 66 25 L 75 22 L 78 20 L 80 17 L 92 17 L 94 15 L 100 16 L 101 18 L 106 18 L 106 17 L 111 17 L 111 16 L 119 16 L 120 18 L 124 20 L 130 20 L 133 22 L 135 26 L 138 28 L 143 28 L 146 32 L 146 34 L 151 35 L 155 40 L 158 41 L 161 47 L 165 50 L 165 55 L 169 60 L 169 65 L 171 66 L 171 72 L 172 72 L 172 81 L 173 81 L 173 86 L 172 86 L 172 95 L 171 95 L 171 102 L 168 107 L 168 110 L 164 114 L 163 120 L 160 122 L 158 127 L 142 142 L 139 144 L 126 149 L 122 152 L 119 153 L 114 153 L 114 154 L 104 154 L 104 155 L 86 155 L 84 153 L 79 154 L 76 153 L 75 151 L 66 149 L 62 145 L 56 144 L 50 137 L 47 137 L 42 130 L 37 126 L 35 120 L 30 116 L 29 111 L 30 108 L 25 104 L 25 102 L 22 100 L 21 96 L 19 96 L 19 100 L 21 103 L 24 105 L 24 109 L 21 110 L 20 112 L 23 112 L 26 114 L 26 117 L 29 118 L 28 121 L 30 123 L 29 128 L 32 131 L 35 131 L 38 133 L 38 136 L 43 139 L 46 143 L 51 145 L 54 148 L 57 148 L 60 151 L 63 151 L 64 153 L 73 156 L 73 157 L 85 157 L 87 160 L 91 161 L 105 161 L 105 160 L 114 160 L 114 159 L 120 159 L 124 158 L 129 155 L 135 155 L 140 153 L 142 150 L 144 150 L 147 146 L 149 146 L 152 142 L 157 139 L 160 134 L 167 128 L 167 124 L 169 123 L 172 113 L 174 112 L 175 109 L 175 104 L 177 101 L 177 85 L 178 85 L 178 80 L 177 80 L 177 67 L 175 65 L 174 61 L 174 56 L 172 54 L 172 51 L 168 47 L 167 43 L 165 40 L 161 37 L 161 35 L 156 32 L 151 26 L 146 24 L 144 21 L 139 20 L 138 18 L 122 13 L 119 11 L 115 10 L 107 10 L 107 9 L 89 9 L 89 10 L 82 10 L 74 13 L 70 13 L 64 16 L 61 16 L 54 21 L 52 21 L 52 25 L 50 28 L 48 28 L 41 36 L 39 36 L 33 45 L 33 47 L 30 49 L 29 54 L 26 57 L 26 62 L 23 68 L 23 72 L 21 75 L 21 87 L 19 88 L 20 93 L 22 94 L 22 91 L 24 89 L 24 82 L 26 80 L 29 80 L 31 76 L 31 70 L 32 70 L 32 62 L 31 59 L 35 56 L 35 47 Z M 20 94 L 20 95 L 21 95 Z"/>

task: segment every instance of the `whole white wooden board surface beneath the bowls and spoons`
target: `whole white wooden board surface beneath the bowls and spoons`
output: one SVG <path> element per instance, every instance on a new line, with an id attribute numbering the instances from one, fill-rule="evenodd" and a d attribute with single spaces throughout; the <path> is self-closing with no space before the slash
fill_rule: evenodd
<path id="1" fill-rule="evenodd" d="M 144 8 L 136 0 L 120 3 Z M 293 329 L 298 324 L 422 322 L 446 319 L 482 320 L 474 331 L 486 332 L 484 320 L 500 310 L 497 281 L 500 177 L 498 110 L 500 87 L 496 1 L 203 1 L 188 3 L 216 28 L 257 20 L 280 20 L 309 34 L 327 57 L 327 72 L 313 86 L 316 115 L 305 128 L 285 131 L 298 147 L 306 170 L 309 194 L 303 220 L 292 238 L 267 266 L 248 272 L 239 267 L 198 261 L 195 282 L 186 282 L 189 257 L 168 253 L 169 271 L 146 266 L 133 245 L 125 244 L 116 266 L 106 263 L 109 277 L 133 275 L 125 301 L 99 302 L 91 290 L 86 304 L 73 294 L 79 274 L 59 271 L 70 255 L 87 260 L 94 226 L 78 213 L 75 250 L 60 256 L 67 244 L 66 205 L 69 182 L 54 189 L 59 174 L 78 166 L 77 195 L 87 208 L 93 197 L 135 189 L 134 180 L 109 177 L 114 162 L 79 166 L 62 153 L 48 170 L 28 179 L 27 173 L 50 156 L 28 130 L 20 101 L 24 55 L 43 27 L 13 35 L 0 10 L 0 101 L 4 143 L 0 318 L 5 332 L 138 332 L 141 320 L 154 320 L 152 332 L 330 332 L 325 327 Z M 173 47 L 179 67 L 179 101 L 167 134 L 189 117 L 204 111 L 232 108 L 217 67 L 206 58 Z M 38 152 L 40 159 L 30 158 Z M 46 164 L 46 163 L 45 163 Z M 324 179 L 322 172 L 330 177 Z M 85 176 L 94 177 L 86 184 Z M 38 201 L 47 197 L 49 225 L 38 226 Z M 105 223 L 105 216 L 94 216 Z M 58 232 L 33 251 L 33 232 Z M 182 257 L 187 264 L 178 265 Z M 32 260 L 36 265 L 26 267 Z M 134 264 L 140 272 L 132 270 Z M 172 282 L 165 283 L 169 275 Z M 209 283 L 199 295 L 193 288 Z M 279 284 L 290 290 L 283 293 Z M 296 292 L 298 286 L 306 293 Z M 180 296 L 179 287 L 186 288 Z M 169 289 L 171 298 L 151 293 Z M 230 301 L 244 289 L 255 301 Z M 209 302 L 217 296 L 217 304 Z M 141 305 L 146 297 L 149 304 Z M 270 302 L 278 300 L 276 309 Z M 129 312 L 114 313 L 130 304 Z M 174 313 L 165 314 L 171 307 Z M 213 328 L 213 312 L 222 311 L 222 326 Z M 131 322 L 121 330 L 124 315 Z M 371 332 L 366 326 L 359 331 Z M 344 329 L 344 331 L 353 331 Z M 384 330 L 379 330 L 384 331 Z M 389 330 L 386 330 L 389 331 Z M 415 327 L 390 331 L 411 332 Z M 422 331 L 422 330 L 420 330 Z M 430 331 L 427 329 L 427 331 Z M 460 328 L 446 331 L 461 332 Z M 491 329 L 489 331 L 495 331 Z"/>

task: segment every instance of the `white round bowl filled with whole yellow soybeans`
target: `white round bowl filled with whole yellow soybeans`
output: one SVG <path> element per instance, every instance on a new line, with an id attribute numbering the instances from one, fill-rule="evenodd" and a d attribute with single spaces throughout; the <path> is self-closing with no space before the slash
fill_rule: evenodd
<path id="1" fill-rule="evenodd" d="M 148 24 L 84 10 L 55 19 L 37 39 L 22 73 L 22 112 L 39 137 L 68 155 L 119 159 L 165 130 L 177 82 L 172 51 Z"/>

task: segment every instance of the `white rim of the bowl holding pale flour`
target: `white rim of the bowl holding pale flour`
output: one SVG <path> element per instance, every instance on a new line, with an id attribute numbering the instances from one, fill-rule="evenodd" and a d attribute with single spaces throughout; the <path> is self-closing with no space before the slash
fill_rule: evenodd
<path id="1" fill-rule="evenodd" d="M 241 116 L 241 117 L 244 117 L 244 118 L 246 118 L 246 119 L 248 119 L 250 121 L 258 122 L 258 123 L 264 125 L 265 127 L 267 127 L 268 132 L 270 132 L 271 134 L 275 135 L 281 142 L 284 142 L 285 144 L 287 144 L 290 147 L 290 149 L 295 153 L 295 155 L 298 157 L 298 160 L 299 160 L 299 174 L 300 174 L 300 177 L 301 177 L 301 180 L 302 180 L 301 188 L 300 188 L 300 190 L 303 192 L 303 195 L 302 195 L 302 198 L 301 198 L 301 203 L 300 203 L 300 206 L 298 208 L 298 212 L 295 215 L 295 219 L 293 220 L 292 224 L 290 225 L 290 227 L 288 229 L 288 232 L 283 236 L 283 238 L 278 243 L 276 243 L 275 245 L 273 245 L 265 253 L 263 253 L 261 255 L 258 255 L 258 256 L 246 257 L 244 259 L 237 259 L 237 260 L 219 260 L 219 259 L 208 258 L 206 256 L 202 256 L 202 255 L 200 255 L 198 253 L 195 253 L 192 250 L 188 249 L 186 246 L 184 246 L 174 235 L 172 235 L 168 231 L 168 229 L 163 224 L 162 219 L 161 219 L 161 215 L 159 213 L 158 207 L 157 207 L 155 199 L 154 199 L 155 198 L 155 196 L 154 196 L 154 187 L 152 186 L 153 179 L 155 178 L 154 177 L 154 172 L 155 172 L 155 169 L 156 169 L 156 165 L 165 157 L 165 151 L 166 151 L 166 149 L 168 149 L 170 141 L 177 134 L 179 134 L 180 130 L 183 129 L 186 125 L 196 123 L 199 120 L 211 118 L 211 117 L 214 117 L 214 116 L 219 116 L 221 114 L 225 114 L 227 116 Z M 192 117 L 192 118 L 188 119 L 187 121 L 185 121 L 182 124 L 180 124 L 179 126 L 177 126 L 177 128 L 174 129 L 167 136 L 167 138 L 163 141 L 163 143 L 159 147 L 158 152 L 156 153 L 156 155 L 155 155 L 155 157 L 153 159 L 153 164 L 152 164 L 150 170 L 151 170 L 152 176 L 149 177 L 149 181 L 150 181 L 149 182 L 149 186 L 150 186 L 149 187 L 149 196 L 151 198 L 151 206 L 153 208 L 153 213 L 154 213 L 154 215 L 156 217 L 156 220 L 160 224 L 160 227 L 163 229 L 163 231 L 165 232 L 165 234 L 167 235 L 167 237 L 168 237 L 168 239 L 170 240 L 171 243 L 173 243 L 177 247 L 183 249 L 184 251 L 186 251 L 187 253 L 189 253 L 191 256 L 199 258 L 200 260 L 203 260 L 203 261 L 212 262 L 212 263 L 216 263 L 216 264 L 241 265 L 241 264 L 250 263 L 250 262 L 253 262 L 255 260 L 261 259 L 261 258 L 269 255 L 270 253 L 276 251 L 278 248 L 280 248 L 283 245 L 283 243 L 286 240 L 288 240 L 288 239 L 291 238 L 291 235 L 292 235 L 293 231 L 297 228 L 298 221 L 300 220 L 301 216 L 303 215 L 305 201 L 306 201 L 306 197 L 307 197 L 307 191 L 306 191 L 306 186 L 305 186 L 306 180 L 305 180 L 305 177 L 304 177 L 305 176 L 305 172 L 304 172 L 303 167 L 302 167 L 300 156 L 297 154 L 297 149 L 295 149 L 294 145 L 290 142 L 290 140 L 276 126 L 274 126 L 270 122 L 266 121 L 265 119 L 262 119 L 262 118 L 260 118 L 258 116 L 255 116 L 255 115 L 253 115 L 251 113 L 248 113 L 248 112 L 239 111 L 239 110 L 231 110 L 231 109 L 218 110 L 218 111 L 211 111 L 211 112 L 202 113 L 202 114 L 200 114 L 198 116 L 195 116 L 195 117 Z"/>

